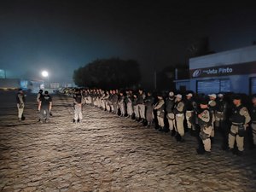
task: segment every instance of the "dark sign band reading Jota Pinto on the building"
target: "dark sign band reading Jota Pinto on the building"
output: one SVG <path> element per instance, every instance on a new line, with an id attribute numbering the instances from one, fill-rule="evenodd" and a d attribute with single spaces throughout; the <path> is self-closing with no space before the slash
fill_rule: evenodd
<path id="1" fill-rule="evenodd" d="M 256 73 L 256 61 L 189 70 L 190 79 Z"/>

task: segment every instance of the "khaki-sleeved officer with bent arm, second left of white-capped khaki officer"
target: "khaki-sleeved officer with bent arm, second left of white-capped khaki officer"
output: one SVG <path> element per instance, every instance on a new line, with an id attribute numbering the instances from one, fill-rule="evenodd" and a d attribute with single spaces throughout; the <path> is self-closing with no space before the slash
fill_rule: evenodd
<path id="1" fill-rule="evenodd" d="M 159 131 L 164 131 L 164 127 L 165 127 L 165 122 L 164 122 L 164 118 L 165 118 L 165 100 L 164 97 L 158 93 L 157 95 L 158 98 L 158 102 L 155 104 L 154 106 L 154 110 L 156 110 L 156 114 L 157 114 L 157 121 L 158 121 L 158 127 L 156 127 L 156 129 L 158 129 Z"/>

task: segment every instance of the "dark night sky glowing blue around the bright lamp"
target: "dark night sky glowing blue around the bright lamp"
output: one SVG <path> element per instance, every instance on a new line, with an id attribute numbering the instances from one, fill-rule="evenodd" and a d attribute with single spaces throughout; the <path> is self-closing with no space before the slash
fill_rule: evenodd
<path id="1" fill-rule="evenodd" d="M 120 57 L 137 60 L 152 84 L 154 67 L 186 62 L 196 39 L 214 51 L 252 45 L 255 10 L 253 1 L 1 0 L 0 68 L 72 81 L 74 69 Z"/>

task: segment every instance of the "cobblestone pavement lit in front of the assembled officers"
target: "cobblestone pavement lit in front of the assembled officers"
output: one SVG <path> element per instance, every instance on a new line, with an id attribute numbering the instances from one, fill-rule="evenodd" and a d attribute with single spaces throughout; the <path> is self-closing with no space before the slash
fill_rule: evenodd
<path id="1" fill-rule="evenodd" d="M 54 96 L 54 117 L 43 125 L 28 96 L 20 123 L 15 96 L 3 95 L 1 191 L 256 191 L 255 150 L 237 157 L 217 141 L 211 156 L 197 155 L 194 137 L 176 143 L 169 133 L 91 106 L 74 125 L 67 96 Z"/>

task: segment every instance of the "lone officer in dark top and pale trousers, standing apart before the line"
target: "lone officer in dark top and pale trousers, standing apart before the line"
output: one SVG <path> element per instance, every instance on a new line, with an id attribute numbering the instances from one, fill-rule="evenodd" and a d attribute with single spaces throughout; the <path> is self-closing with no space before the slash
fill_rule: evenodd
<path id="1" fill-rule="evenodd" d="M 73 108 L 74 108 L 74 123 L 82 122 L 83 114 L 82 114 L 82 103 L 83 96 L 80 93 L 79 89 L 75 90 L 75 94 L 73 95 Z"/>

